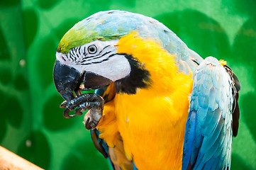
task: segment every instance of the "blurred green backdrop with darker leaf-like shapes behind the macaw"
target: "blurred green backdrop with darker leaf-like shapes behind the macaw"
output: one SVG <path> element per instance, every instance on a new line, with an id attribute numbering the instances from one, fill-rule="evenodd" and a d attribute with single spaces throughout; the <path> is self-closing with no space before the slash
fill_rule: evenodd
<path id="1" fill-rule="evenodd" d="M 110 169 L 83 116 L 62 116 L 52 67 L 69 28 L 121 9 L 156 18 L 202 57 L 228 61 L 242 84 L 232 169 L 256 169 L 255 8 L 254 0 L 0 0 L 0 145 L 44 169 Z"/>

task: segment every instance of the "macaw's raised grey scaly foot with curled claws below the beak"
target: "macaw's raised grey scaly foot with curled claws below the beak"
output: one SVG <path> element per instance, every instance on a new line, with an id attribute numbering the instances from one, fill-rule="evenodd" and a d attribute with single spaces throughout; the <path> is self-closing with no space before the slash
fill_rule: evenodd
<path id="1" fill-rule="evenodd" d="M 85 121 L 85 127 L 87 129 L 96 128 L 99 120 L 102 116 L 102 111 L 104 108 L 104 99 L 97 94 L 81 94 L 70 101 L 64 101 L 60 108 L 65 108 L 64 117 L 72 118 L 73 115 L 69 115 L 69 111 L 74 111 L 74 108 L 77 108 L 74 113 L 75 115 L 82 115 L 82 111 L 89 110 L 89 112 L 84 116 L 87 118 Z"/>

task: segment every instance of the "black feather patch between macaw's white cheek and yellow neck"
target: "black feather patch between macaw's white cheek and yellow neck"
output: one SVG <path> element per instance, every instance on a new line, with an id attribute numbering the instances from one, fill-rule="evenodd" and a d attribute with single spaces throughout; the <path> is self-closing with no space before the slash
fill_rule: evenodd
<path id="1" fill-rule="evenodd" d="M 143 89 L 150 86 L 150 72 L 143 64 L 135 60 L 132 55 L 124 55 L 130 64 L 130 74 L 123 79 L 115 81 L 116 93 L 136 94 L 138 88 Z"/>

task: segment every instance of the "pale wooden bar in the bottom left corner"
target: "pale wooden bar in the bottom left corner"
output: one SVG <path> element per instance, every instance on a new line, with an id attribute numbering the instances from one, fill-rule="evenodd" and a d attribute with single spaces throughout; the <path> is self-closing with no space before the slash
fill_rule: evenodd
<path id="1" fill-rule="evenodd" d="M 1 170 L 43 170 L 40 167 L 19 157 L 0 146 L 0 169 Z"/>

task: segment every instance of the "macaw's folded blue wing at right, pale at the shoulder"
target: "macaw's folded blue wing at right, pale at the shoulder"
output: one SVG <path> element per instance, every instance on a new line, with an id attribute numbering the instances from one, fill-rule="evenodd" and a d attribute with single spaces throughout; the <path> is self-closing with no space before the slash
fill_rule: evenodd
<path id="1" fill-rule="evenodd" d="M 207 57 L 196 70 L 186 124 L 182 169 L 230 166 L 232 83 L 226 69 Z"/>

